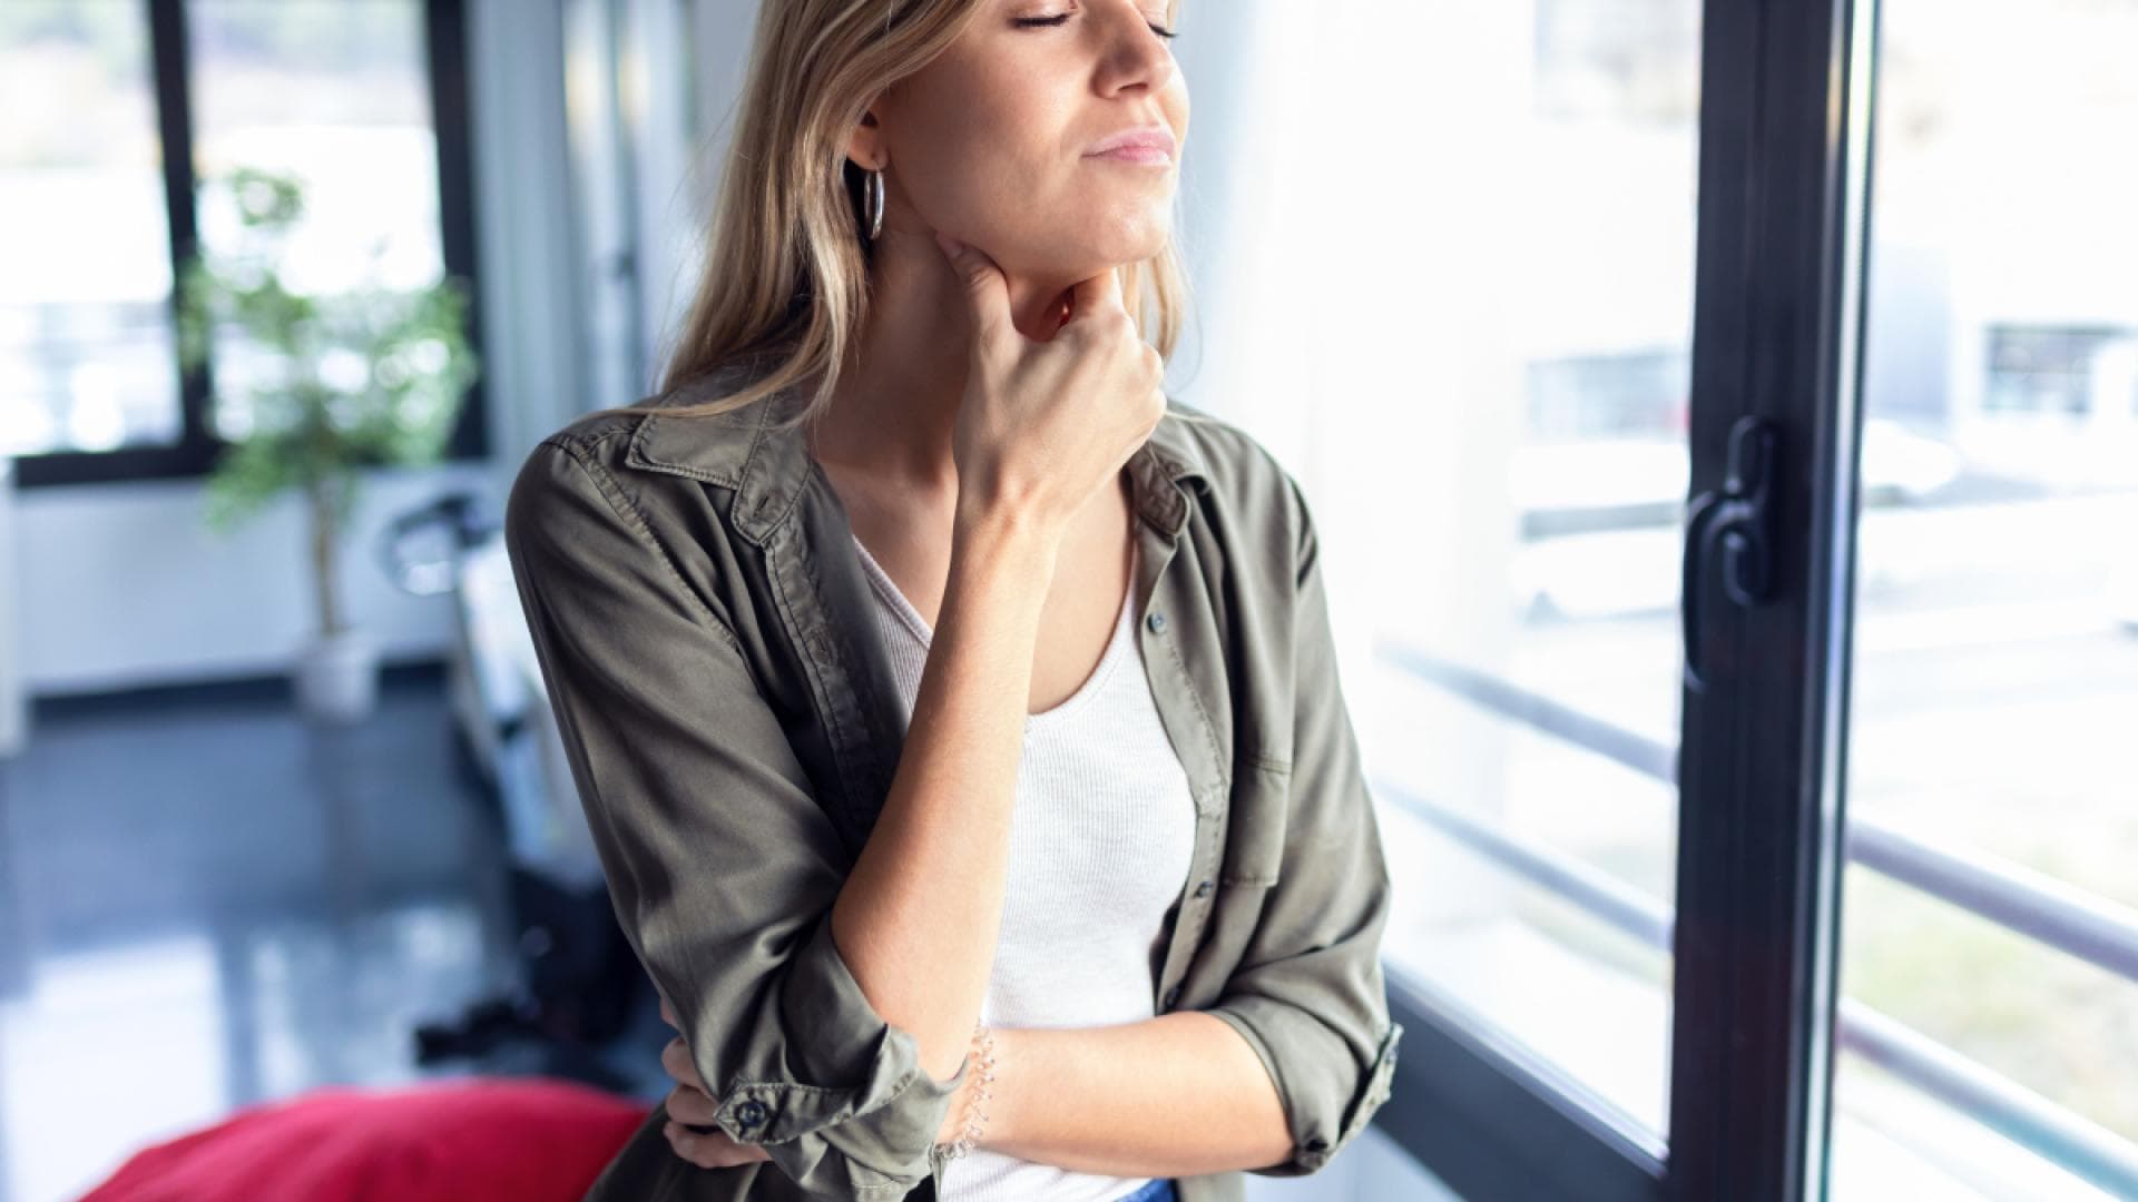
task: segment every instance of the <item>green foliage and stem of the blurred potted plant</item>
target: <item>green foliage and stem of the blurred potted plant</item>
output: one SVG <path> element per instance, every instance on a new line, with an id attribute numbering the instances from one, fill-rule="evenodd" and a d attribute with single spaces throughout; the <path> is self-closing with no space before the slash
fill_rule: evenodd
<path id="1" fill-rule="evenodd" d="M 205 488 L 205 520 L 227 533 L 284 492 L 310 511 L 319 631 L 346 629 L 338 558 L 366 466 L 443 458 L 479 364 L 466 338 L 470 284 L 363 284 L 338 293 L 289 287 L 291 237 L 304 218 L 293 175 L 239 167 L 212 182 L 235 203 L 237 246 L 188 261 L 177 282 L 177 351 L 210 361 L 220 334 L 246 346 L 212 389 L 224 443 Z"/>

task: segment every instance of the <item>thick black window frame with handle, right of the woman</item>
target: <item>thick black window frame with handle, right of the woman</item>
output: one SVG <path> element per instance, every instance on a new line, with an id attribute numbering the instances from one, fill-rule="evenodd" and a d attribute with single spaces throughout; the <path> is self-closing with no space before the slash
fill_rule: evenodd
<path id="1" fill-rule="evenodd" d="M 1849 295 L 1875 0 L 1706 0 L 1691 498 L 1732 428 L 1777 436 L 1770 599 L 1706 565 L 1685 691 L 1670 1142 L 1616 1123 L 1392 973 L 1405 1057 L 1377 1121 L 1467 1198 L 1798 1202 L 1824 1196 L 1830 841 L 1845 738 L 1856 340 Z M 1852 192 L 1856 188 L 1856 192 Z M 1834 654 L 1839 644 L 1841 654 Z M 1839 678 L 1837 678 L 1839 674 Z"/>

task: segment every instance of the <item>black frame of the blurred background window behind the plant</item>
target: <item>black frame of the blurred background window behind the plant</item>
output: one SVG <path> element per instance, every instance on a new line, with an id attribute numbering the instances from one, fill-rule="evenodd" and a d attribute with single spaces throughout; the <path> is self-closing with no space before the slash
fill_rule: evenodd
<path id="1" fill-rule="evenodd" d="M 192 56 L 186 45 L 186 0 L 143 0 L 154 62 L 156 124 L 162 139 L 162 192 L 169 214 L 171 263 L 199 255 L 192 173 Z M 425 60 L 430 64 L 432 122 L 438 135 L 438 216 L 445 272 L 477 280 L 475 261 L 475 158 L 468 143 L 468 49 L 464 0 L 421 0 Z M 173 272 L 175 278 L 175 272 Z M 175 321 L 175 304 L 173 321 Z M 481 302 L 470 297 L 468 340 L 483 355 Z M 207 428 L 207 370 L 180 376 L 180 441 L 169 447 L 122 447 L 115 451 L 51 451 L 15 460 L 19 488 L 66 483 L 111 483 L 128 479 L 205 477 L 224 443 Z M 487 398 L 481 376 L 468 389 L 445 458 L 449 462 L 490 456 Z"/>

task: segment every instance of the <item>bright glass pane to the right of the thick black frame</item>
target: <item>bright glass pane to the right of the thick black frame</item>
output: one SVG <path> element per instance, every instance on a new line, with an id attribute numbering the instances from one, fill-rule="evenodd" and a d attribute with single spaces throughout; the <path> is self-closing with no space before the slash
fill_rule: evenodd
<path id="1" fill-rule="evenodd" d="M 1834 1198 L 2138 1196 L 2138 2 L 1886 0 Z"/>

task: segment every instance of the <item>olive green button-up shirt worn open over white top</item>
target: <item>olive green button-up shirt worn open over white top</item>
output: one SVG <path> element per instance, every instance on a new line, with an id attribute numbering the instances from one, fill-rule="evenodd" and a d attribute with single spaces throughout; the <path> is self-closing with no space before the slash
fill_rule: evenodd
<path id="1" fill-rule="evenodd" d="M 735 370 L 659 404 L 725 396 Z M 774 426 L 800 404 L 586 415 L 528 456 L 505 507 L 616 915 L 721 1129 L 770 1155 L 697 1168 L 656 1106 L 590 1200 L 941 1191 L 934 1136 L 971 1059 L 932 1080 L 832 941 L 904 719 L 847 511 L 802 430 Z M 1388 866 L 1300 488 L 1236 426 L 1178 413 L 1199 411 L 1169 400 L 1127 462 L 1140 659 L 1195 793 L 1150 999 L 1246 1039 L 1293 1140 L 1249 1172 L 1298 1176 L 1388 1099 Z M 1182 1202 L 1244 1198 L 1240 1172 L 1178 1181 Z"/>

